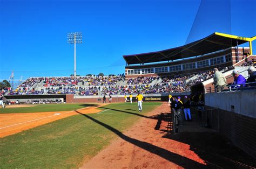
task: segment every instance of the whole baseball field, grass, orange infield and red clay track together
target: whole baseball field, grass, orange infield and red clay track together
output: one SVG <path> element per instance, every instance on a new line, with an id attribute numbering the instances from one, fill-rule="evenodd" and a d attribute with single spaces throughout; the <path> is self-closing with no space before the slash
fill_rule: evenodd
<path id="1" fill-rule="evenodd" d="M 173 133 L 170 106 L 144 102 L 0 109 L 0 168 L 253 168 L 196 114 Z"/>

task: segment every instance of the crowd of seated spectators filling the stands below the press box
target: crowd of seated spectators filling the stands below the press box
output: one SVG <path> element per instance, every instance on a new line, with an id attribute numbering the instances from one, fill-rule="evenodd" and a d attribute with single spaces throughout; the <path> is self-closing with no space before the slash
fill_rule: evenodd
<path id="1" fill-rule="evenodd" d="M 253 64 L 248 61 L 244 66 Z M 219 67 L 221 72 L 233 69 L 230 67 Z M 159 80 L 160 77 L 139 77 L 127 79 L 126 86 L 118 86 L 119 81 L 124 80 L 123 75 L 109 75 L 109 76 L 70 76 L 62 78 L 29 78 L 15 91 L 11 88 L 4 88 L 1 95 L 29 95 L 29 94 L 78 94 L 78 95 L 124 95 L 137 94 L 138 91 L 142 94 L 154 93 L 181 93 L 190 91 L 191 86 L 207 79 L 213 78 L 213 71 L 205 71 L 193 74 L 183 74 L 161 77 L 161 82 L 151 86 L 153 80 Z M 193 80 L 189 80 L 193 76 Z M 35 90 L 31 86 L 35 83 L 43 81 L 44 87 L 41 90 Z M 78 84 L 79 83 L 79 84 Z M 56 88 L 57 87 L 57 88 Z"/>

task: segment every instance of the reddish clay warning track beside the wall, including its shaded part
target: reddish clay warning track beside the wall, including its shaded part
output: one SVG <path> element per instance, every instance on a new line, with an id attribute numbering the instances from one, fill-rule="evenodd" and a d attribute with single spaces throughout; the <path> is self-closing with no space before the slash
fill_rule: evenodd
<path id="1" fill-rule="evenodd" d="M 256 166 L 250 157 L 231 146 L 217 132 L 199 127 L 196 122 L 184 123 L 184 128 L 180 127 L 181 132 L 174 135 L 170 107 L 167 103 L 143 116 L 124 133 L 99 123 L 120 138 L 114 140 L 81 168 Z"/>

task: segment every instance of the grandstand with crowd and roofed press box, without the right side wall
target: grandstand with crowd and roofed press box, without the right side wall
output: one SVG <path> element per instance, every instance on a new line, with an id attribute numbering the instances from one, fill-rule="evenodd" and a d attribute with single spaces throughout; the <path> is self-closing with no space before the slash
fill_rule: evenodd
<path id="1" fill-rule="evenodd" d="M 11 103 L 52 100 L 67 103 L 102 102 L 104 95 L 114 95 L 117 102 L 123 95 L 138 92 L 148 101 L 166 101 L 167 95 L 206 93 L 214 89 L 213 68 L 223 72 L 228 82 L 232 71 L 248 77 L 248 66 L 255 66 L 252 38 L 215 32 L 206 38 L 168 50 L 124 55 L 125 75 L 34 77 L 26 79 L 17 89 L 4 88 L 2 95 Z M 249 43 L 249 47 L 239 45 Z M 30 95 L 30 96 L 29 96 Z M 68 100 L 67 100 L 68 98 Z M 57 101 L 57 102 L 58 102 Z"/>

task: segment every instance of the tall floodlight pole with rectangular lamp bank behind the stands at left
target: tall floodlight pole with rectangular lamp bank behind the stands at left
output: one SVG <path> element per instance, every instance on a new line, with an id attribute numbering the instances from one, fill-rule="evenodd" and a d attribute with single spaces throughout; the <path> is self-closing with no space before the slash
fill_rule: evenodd
<path id="1" fill-rule="evenodd" d="M 76 73 L 76 44 L 82 44 L 82 32 L 72 32 L 68 33 L 68 44 L 74 44 L 74 76 L 77 76 Z"/>

